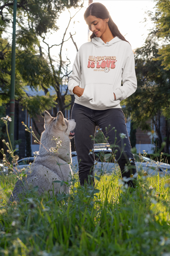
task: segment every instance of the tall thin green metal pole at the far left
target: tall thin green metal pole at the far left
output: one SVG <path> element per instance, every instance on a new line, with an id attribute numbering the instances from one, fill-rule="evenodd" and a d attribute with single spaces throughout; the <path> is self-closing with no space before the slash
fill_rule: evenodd
<path id="1" fill-rule="evenodd" d="M 11 94 L 10 114 L 12 121 L 9 123 L 9 137 L 12 149 L 14 146 L 14 114 L 15 114 L 15 69 L 16 69 L 16 8 L 17 0 L 13 1 L 13 34 L 12 34 L 12 57 L 11 57 Z"/>

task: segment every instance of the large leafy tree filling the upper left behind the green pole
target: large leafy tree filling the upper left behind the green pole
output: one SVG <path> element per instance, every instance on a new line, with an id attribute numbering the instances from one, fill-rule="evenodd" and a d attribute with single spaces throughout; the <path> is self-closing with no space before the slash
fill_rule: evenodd
<path id="1" fill-rule="evenodd" d="M 70 16 L 69 24 L 63 35 L 63 40 L 56 45 L 49 46 L 48 55 L 43 53 L 41 47 L 42 39 L 49 32 L 56 32 L 57 19 L 65 8 L 83 7 L 80 0 L 20 0 L 17 3 L 17 33 L 16 33 L 16 101 L 27 109 L 33 118 L 46 109 L 54 107 L 56 104 L 60 110 L 68 107 L 69 98 L 67 91 L 64 96 L 60 94 L 60 84 L 62 79 L 69 75 L 68 65 L 62 60 L 62 48 L 65 41 L 65 34 L 73 17 Z M 9 85 L 11 74 L 11 42 L 7 34 L 10 35 L 12 21 L 13 1 L 1 1 L 0 6 L 0 104 L 9 102 Z M 7 37 L 7 38 L 6 38 Z M 70 35 L 69 38 L 71 38 Z M 50 49 L 60 46 L 59 67 L 56 67 L 50 55 Z M 30 96 L 27 93 L 27 86 L 31 89 L 42 89 L 44 96 Z M 55 96 L 51 96 L 49 88 L 54 87 Z M 66 97 L 67 96 L 67 97 Z M 65 105 L 65 102 L 67 103 Z M 34 122 L 35 124 L 35 122 Z M 37 130 L 38 131 L 38 130 Z"/>

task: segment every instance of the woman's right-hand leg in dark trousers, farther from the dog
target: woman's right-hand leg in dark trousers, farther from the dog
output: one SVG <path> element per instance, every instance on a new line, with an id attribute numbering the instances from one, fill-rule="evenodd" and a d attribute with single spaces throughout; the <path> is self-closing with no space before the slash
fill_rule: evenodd
<path id="1" fill-rule="evenodd" d="M 131 174 L 136 174 L 136 165 L 134 162 L 134 155 L 131 152 L 131 145 L 123 111 L 121 108 L 102 111 L 95 110 L 95 119 L 98 126 L 102 128 L 105 137 L 109 137 L 109 144 L 116 145 L 116 147 L 113 147 L 112 151 L 114 153 L 114 151 L 117 150 L 115 158 L 121 169 L 122 177 L 130 178 Z M 107 127 L 107 131 L 105 127 Z M 114 129 L 112 129 L 113 127 Z M 120 136 L 121 133 L 125 135 L 124 139 L 121 138 L 121 136 L 123 136 Z M 115 137 L 117 137 L 116 143 Z M 127 168 L 125 167 L 126 164 L 130 164 L 130 166 Z M 133 185 L 132 181 L 128 181 L 127 183 L 128 185 Z"/>

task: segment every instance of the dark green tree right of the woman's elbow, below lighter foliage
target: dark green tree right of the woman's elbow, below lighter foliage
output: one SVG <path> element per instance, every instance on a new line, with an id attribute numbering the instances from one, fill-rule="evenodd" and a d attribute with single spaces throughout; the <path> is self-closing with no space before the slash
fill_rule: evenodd
<path id="1" fill-rule="evenodd" d="M 159 148 L 163 142 L 161 115 L 166 119 L 166 153 L 170 144 L 170 71 L 163 69 L 159 60 L 159 45 L 148 37 L 143 47 L 135 51 L 138 88 L 124 103 L 134 128 L 151 130 L 152 120 L 158 135 Z"/>

